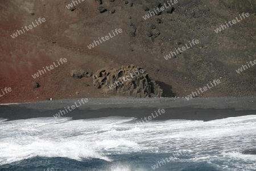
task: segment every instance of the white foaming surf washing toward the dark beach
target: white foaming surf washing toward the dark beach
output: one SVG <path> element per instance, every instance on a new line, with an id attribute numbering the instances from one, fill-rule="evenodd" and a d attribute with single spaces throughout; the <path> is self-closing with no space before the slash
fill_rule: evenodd
<path id="1" fill-rule="evenodd" d="M 35 156 L 112 161 L 107 157 L 110 154 L 180 151 L 189 156 L 189 159 L 184 159 L 188 161 L 211 162 L 220 157 L 249 162 L 256 160 L 255 155 L 241 153 L 256 148 L 255 115 L 209 122 L 165 120 L 140 125 L 135 124 L 134 119 L 51 117 L 0 122 L 0 165 Z M 210 156 L 211 152 L 216 155 Z M 173 160 L 177 158 L 173 157 Z M 234 162 L 234 165 L 239 164 Z M 129 169 L 129 166 L 113 167 Z"/>

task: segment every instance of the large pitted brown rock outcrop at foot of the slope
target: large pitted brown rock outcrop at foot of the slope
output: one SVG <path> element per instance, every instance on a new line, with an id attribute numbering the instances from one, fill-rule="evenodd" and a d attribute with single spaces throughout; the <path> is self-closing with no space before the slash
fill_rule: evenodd
<path id="1" fill-rule="evenodd" d="M 103 68 L 93 75 L 93 85 L 107 94 L 130 97 L 161 97 L 163 90 L 136 65 Z"/>

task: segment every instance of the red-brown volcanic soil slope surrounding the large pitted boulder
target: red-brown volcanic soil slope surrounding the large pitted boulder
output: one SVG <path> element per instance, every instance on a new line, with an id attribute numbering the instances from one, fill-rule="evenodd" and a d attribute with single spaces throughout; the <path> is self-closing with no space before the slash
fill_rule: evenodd
<path id="1" fill-rule="evenodd" d="M 244 71 L 242 76 L 238 76 L 235 72 L 235 69 L 241 67 L 246 61 L 256 59 L 255 41 L 253 41 L 255 32 L 253 33 L 251 30 L 255 28 L 253 27 L 255 26 L 253 25 L 255 24 L 255 15 L 251 14 L 251 18 L 243 23 L 243 27 L 234 26 L 246 31 L 238 34 L 235 32 L 237 37 L 234 37 L 230 33 L 224 34 L 225 36 L 222 36 L 221 33 L 216 34 L 213 28 L 224 23 L 224 19 L 218 15 L 225 16 L 228 20 L 240 14 L 240 11 L 233 9 L 232 14 L 229 14 L 230 10 L 220 14 L 221 9 L 219 12 L 215 12 L 218 5 L 212 2 L 202 1 L 208 5 L 210 11 L 204 15 L 202 13 L 200 18 L 183 15 L 182 11 L 190 5 L 181 4 L 176 7 L 174 14 L 170 14 L 171 17 L 167 17 L 165 13 L 159 15 L 158 17 L 161 19 L 166 18 L 162 19 L 163 23 L 161 24 L 154 23 L 156 16 L 148 20 L 142 18 L 147 14 L 142 10 L 142 5 L 150 7 L 148 1 L 133 1 L 134 5 L 130 7 L 129 4 L 125 5 L 117 0 L 115 2 L 103 0 L 101 6 L 108 10 L 115 9 L 114 14 L 108 11 L 100 14 L 97 11 L 97 7 L 100 5 L 93 0 L 81 1 L 76 6 L 76 10 L 71 11 L 65 7 L 71 2 L 1 1 L 0 89 L 11 87 L 12 91 L 0 97 L 0 103 L 34 102 L 47 98 L 117 98 L 104 94 L 94 87 L 92 78 L 73 78 L 70 71 L 84 69 L 96 72 L 104 67 L 130 64 L 146 69 L 152 80 L 167 85 L 164 91 L 172 92 L 178 97 L 184 97 L 191 91 L 195 91 L 197 87 L 203 87 L 209 81 L 220 77 L 223 78 L 223 84 L 208 90 L 202 97 L 255 95 L 253 90 L 256 85 L 256 66 L 250 72 Z M 140 4 L 141 2 L 142 4 Z M 195 5 L 191 8 L 198 9 L 198 6 L 201 7 L 201 5 Z M 252 6 L 255 11 L 255 4 Z M 225 7 L 223 8 L 225 9 Z M 46 22 L 14 39 L 10 36 L 16 30 L 21 30 L 21 27 L 30 25 L 38 18 L 46 18 Z M 200 20 L 202 18 L 206 19 Z M 210 19 L 213 23 L 204 23 Z M 198 25 L 197 22 L 203 24 L 202 28 L 195 28 Z M 130 23 L 136 27 L 135 37 L 129 36 L 129 32 L 133 31 L 133 27 L 129 26 Z M 158 37 L 150 38 L 144 34 L 148 30 L 149 23 L 155 24 L 160 31 L 161 34 Z M 189 24 L 191 26 L 187 27 Z M 93 40 L 108 35 L 115 28 L 121 28 L 122 34 L 97 47 L 88 49 L 87 45 Z M 233 33 L 232 29 L 235 30 L 235 28 L 230 28 L 230 32 Z M 190 32 L 191 36 L 187 36 L 187 32 Z M 208 35 L 213 37 L 206 37 L 205 32 L 209 32 Z M 251 37 L 250 40 L 247 40 L 247 37 Z M 169 43 L 169 38 L 172 39 L 171 43 Z M 197 46 L 191 51 L 184 52 L 184 55 L 182 53 L 175 59 L 166 61 L 163 58 L 170 50 L 180 46 L 176 44 L 177 41 L 181 41 L 184 45 L 192 39 L 199 39 L 200 47 Z M 236 41 L 234 39 L 240 41 L 234 43 Z M 221 46 L 217 46 L 216 42 L 217 44 L 221 42 Z M 162 43 L 163 45 L 161 45 Z M 238 49 L 239 53 L 236 52 Z M 234 60 L 226 58 L 232 54 Z M 241 58 L 236 58 L 237 56 Z M 199 57 L 202 60 L 197 60 Z M 52 65 L 60 58 L 66 58 L 67 62 L 38 78 L 32 78 L 32 75 L 39 69 L 42 70 L 43 67 Z M 38 82 L 40 87 L 34 88 L 32 86 L 34 81 Z M 83 82 L 90 86 L 82 86 Z M 166 94 L 166 96 L 170 95 Z"/>

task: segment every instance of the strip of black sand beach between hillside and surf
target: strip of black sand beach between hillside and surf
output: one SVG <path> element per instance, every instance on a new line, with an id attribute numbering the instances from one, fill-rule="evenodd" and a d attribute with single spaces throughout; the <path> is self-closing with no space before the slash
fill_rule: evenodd
<path id="1" fill-rule="evenodd" d="M 42 101 L 0 105 L 0 118 L 9 120 L 53 117 L 64 107 L 72 106 L 79 99 Z M 147 98 L 147 99 L 88 99 L 89 101 L 64 114 L 77 119 L 107 116 L 148 117 L 158 109 L 166 112 L 152 120 L 188 119 L 214 120 L 256 114 L 256 98 Z"/>

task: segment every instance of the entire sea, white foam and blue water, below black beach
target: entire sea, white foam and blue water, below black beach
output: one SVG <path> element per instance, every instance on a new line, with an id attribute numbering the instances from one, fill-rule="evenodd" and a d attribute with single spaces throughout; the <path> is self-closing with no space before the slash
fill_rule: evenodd
<path id="1" fill-rule="evenodd" d="M 0 170 L 256 170 L 256 115 L 0 119 Z"/>

